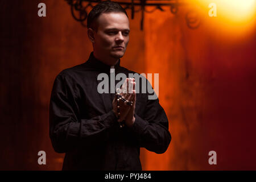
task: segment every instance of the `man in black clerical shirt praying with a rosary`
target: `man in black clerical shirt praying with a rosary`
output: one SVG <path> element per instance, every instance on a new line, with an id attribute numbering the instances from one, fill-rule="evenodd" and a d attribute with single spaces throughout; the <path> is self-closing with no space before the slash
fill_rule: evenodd
<path id="1" fill-rule="evenodd" d="M 166 113 L 158 99 L 137 92 L 133 78 L 121 88 L 132 85 L 131 93 L 98 92 L 101 73 L 135 73 L 121 67 L 119 59 L 129 42 L 129 19 L 121 6 L 107 1 L 94 6 L 87 21 L 93 52 L 85 63 L 57 75 L 53 85 L 53 148 L 66 153 L 64 170 L 142 170 L 140 147 L 162 154 L 171 142 Z"/>

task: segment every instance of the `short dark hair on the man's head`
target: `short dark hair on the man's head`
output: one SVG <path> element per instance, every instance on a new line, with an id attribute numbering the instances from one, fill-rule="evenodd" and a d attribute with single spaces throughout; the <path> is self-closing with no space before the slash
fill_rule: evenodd
<path id="1" fill-rule="evenodd" d="M 123 7 L 119 5 L 117 2 L 101 1 L 96 6 L 94 6 L 93 9 L 90 11 L 87 18 L 87 28 L 96 28 L 96 31 L 97 31 L 97 27 L 93 27 L 93 26 L 98 16 L 100 16 L 103 13 L 110 13 L 110 12 L 117 12 L 117 13 L 121 12 L 128 17 L 125 9 L 123 9 Z"/>

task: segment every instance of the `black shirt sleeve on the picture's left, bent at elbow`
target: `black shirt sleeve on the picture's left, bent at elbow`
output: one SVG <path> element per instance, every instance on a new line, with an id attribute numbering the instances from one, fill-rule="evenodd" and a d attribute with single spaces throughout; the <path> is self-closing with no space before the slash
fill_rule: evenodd
<path id="1" fill-rule="evenodd" d="M 117 119 L 114 112 L 91 119 L 80 119 L 76 92 L 67 76 L 58 75 L 52 88 L 49 106 L 49 136 L 56 152 L 72 151 L 81 144 L 107 140 L 107 129 Z"/>

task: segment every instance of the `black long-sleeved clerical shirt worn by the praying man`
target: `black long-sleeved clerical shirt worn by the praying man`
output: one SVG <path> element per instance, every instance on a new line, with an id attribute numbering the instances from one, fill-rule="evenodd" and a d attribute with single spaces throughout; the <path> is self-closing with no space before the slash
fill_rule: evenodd
<path id="1" fill-rule="evenodd" d="M 114 66 L 115 75 L 129 71 Z M 84 64 L 57 75 L 49 107 L 49 136 L 56 152 L 65 152 L 63 170 L 141 170 L 140 147 L 161 154 L 171 142 L 168 119 L 159 100 L 136 93 L 135 122 L 120 128 L 114 94 L 98 93 L 100 73 L 110 66 L 90 54 Z M 147 82 L 149 83 L 149 82 Z"/>

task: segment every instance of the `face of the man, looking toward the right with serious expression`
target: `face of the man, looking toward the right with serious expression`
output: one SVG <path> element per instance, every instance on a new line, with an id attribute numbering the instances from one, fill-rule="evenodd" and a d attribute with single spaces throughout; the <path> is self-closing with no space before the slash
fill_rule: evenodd
<path id="1" fill-rule="evenodd" d="M 106 60 L 122 57 L 129 42 L 130 28 L 127 16 L 119 12 L 103 13 L 96 23 L 98 28 L 94 34 L 94 53 Z"/>

